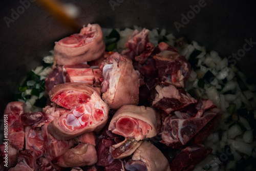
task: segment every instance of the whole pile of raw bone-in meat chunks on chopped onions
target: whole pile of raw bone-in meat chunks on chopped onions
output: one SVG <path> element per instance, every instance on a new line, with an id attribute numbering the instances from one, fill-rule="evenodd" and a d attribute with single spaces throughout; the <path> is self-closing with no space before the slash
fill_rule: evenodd
<path id="1" fill-rule="evenodd" d="M 120 54 L 105 52 L 97 24 L 56 42 L 48 105 L 6 107 L 2 170 L 192 170 L 210 154 L 202 142 L 220 110 L 183 90 L 190 64 L 148 32 L 135 30 Z"/>

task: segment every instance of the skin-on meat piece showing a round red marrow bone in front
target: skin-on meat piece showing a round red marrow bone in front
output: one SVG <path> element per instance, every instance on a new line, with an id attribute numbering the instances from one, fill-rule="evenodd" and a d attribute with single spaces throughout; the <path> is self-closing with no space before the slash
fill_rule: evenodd
<path id="1" fill-rule="evenodd" d="M 124 105 L 113 116 L 109 130 L 139 141 L 157 135 L 156 112 L 145 106 Z"/>

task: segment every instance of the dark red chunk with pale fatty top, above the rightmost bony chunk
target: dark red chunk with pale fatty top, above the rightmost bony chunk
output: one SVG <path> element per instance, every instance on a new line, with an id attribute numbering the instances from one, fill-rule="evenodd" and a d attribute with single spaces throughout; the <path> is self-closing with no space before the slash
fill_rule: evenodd
<path id="1" fill-rule="evenodd" d="M 173 111 L 184 108 L 185 106 L 196 103 L 197 100 L 191 97 L 183 89 L 177 89 L 170 84 L 169 86 L 159 86 L 156 88 L 155 99 L 152 105 L 163 114 L 170 114 Z"/>

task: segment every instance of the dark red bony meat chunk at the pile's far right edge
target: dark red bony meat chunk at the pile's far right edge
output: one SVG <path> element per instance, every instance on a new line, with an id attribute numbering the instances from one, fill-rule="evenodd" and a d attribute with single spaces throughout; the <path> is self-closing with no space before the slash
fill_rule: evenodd
<path id="1" fill-rule="evenodd" d="M 194 109 L 195 105 L 191 105 L 190 108 Z M 171 148 L 181 148 L 196 136 L 204 126 L 207 127 L 209 122 L 215 120 L 216 117 L 219 119 L 220 110 L 215 107 L 207 109 L 204 106 L 203 109 L 196 108 L 196 111 L 193 109 L 186 108 L 182 112 L 176 111 L 174 115 L 168 115 L 163 120 L 162 143 Z M 217 122 L 215 123 L 217 124 Z M 210 125 L 209 130 L 214 129 L 214 126 L 216 125 Z"/>

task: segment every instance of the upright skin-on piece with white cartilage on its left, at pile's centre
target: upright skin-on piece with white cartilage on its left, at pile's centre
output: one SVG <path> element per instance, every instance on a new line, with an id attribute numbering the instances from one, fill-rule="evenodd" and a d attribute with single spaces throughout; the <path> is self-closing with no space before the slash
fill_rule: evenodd
<path id="1" fill-rule="evenodd" d="M 117 110 L 124 104 L 138 104 L 139 79 L 129 57 L 116 52 L 99 67 L 104 79 L 101 84 L 102 99 L 111 109 Z"/>

